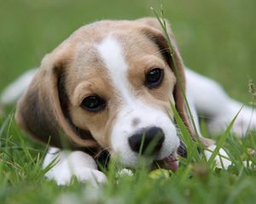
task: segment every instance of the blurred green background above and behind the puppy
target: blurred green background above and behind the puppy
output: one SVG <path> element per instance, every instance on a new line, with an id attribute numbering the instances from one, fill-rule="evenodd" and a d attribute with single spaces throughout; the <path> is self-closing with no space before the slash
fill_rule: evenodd
<path id="1" fill-rule="evenodd" d="M 256 80 L 256 1 L 162 3 L 185 64 L 249 102 L 247 82 Z M 0 91 L 79 26 L 152 16 L 151 6 L 160 8 L 160 1 L 0 0 Z"/>

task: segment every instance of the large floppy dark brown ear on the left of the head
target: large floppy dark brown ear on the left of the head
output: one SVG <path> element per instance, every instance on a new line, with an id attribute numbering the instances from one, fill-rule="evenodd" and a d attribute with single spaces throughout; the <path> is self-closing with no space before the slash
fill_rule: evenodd
<path id="1" fill-rule="evenodd" d="M 56 147 L 65 147 L 67 142 L 72 146 L 96 146 L 90 133 L 74 127 L 68 116 L 67 64 L 68 59 L 55 59 L 53 54 L 44 57 L 40 70 L 18 102 L 15 120 L 35 139 Z"/>

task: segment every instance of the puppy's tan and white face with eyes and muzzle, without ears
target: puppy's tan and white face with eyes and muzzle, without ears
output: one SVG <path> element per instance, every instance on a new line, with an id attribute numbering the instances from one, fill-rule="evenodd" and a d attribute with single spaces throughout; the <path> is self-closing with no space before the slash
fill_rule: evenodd
<path id="1" fill-rule="evenodd" d="M 88 49 L 91 54 L 84 59 Z M 150 39 L 137 33 L 109 33 L 79 47 L 69 70 L 67 81 L 73 84 L 67 93 L 74 125 L 90 130 L 125 165 L 136 164 L 143 133 L 148 143 L 157 134 L 162 137 L 155 141 L 156 159 L 177 150 L 176 129 L 167 114 L 176 78 Z"/>

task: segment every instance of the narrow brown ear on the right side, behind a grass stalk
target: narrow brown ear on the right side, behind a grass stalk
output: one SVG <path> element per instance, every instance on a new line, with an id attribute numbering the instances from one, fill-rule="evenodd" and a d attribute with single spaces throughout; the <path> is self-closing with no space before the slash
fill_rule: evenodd
<path id="1" fill-rule="evenodd" d="M 167 64 L 171 67 L 176 77 L 179 78 L 179 82 L 177 80 L 173 92 L 176 109 L 179 115 L 182 117 L 184 124 L 188 128 L 190 135 L 192 136 L 193 139 L 195 139 L 195 131 L 194 128 L 192 127 L 191 121 L 189 120 L 188 111 L 185 105 L 185 99 L 183 97 L 183 92 L 185 93 L 186 88 L 183 59 L 181 58 L 181 55 L 177 48 L 177 43 L 172 33 L 171 26 L 168 23 L 168 21 L 166 21 L 166 30 L 172 42 L 172 47 L 174 49 L 173 57 L 177 64 L 177 71 L 174 70 L 171 51 L 170 48 L 168 47 L 166 36 L 160 26 L 159 21 L 154 18 L 143 18 L 137 20 L 137 22 L 145 26 L 142 28 L 143 34 L 145 34 L 147 37 L 149 37 L 153 42 L 157 44 L 157 46 L 160 48 L 161 54 L 163 54 L 163 57 L 166 59 Z"/>

